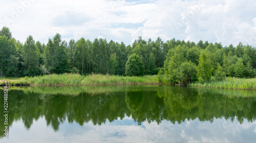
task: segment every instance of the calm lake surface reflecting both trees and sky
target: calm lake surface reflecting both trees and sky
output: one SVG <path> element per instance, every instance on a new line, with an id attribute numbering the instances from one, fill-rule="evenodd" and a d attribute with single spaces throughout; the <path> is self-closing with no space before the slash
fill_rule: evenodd
<path id="1" fill-rule="evenodd" d="M 256 91 L 160 85 L 11 87 L 0 142 L 255 142 Z M 235 97 L 233 97 L 234 95 Z"/>

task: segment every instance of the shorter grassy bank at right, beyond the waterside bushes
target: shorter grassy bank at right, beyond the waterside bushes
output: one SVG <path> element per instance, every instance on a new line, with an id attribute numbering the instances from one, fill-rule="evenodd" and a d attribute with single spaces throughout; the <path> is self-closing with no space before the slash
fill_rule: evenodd
<path id="1" fill-rule="evenodd" d="M 219 88 L 219 89 L 241 89 L 241 90 L 256 90 L 256 78 L 243 79 L 227 77 L 223 81 L 212 81 L 209 83 L 190 83 L 190 87 L 200 88 Z"/>

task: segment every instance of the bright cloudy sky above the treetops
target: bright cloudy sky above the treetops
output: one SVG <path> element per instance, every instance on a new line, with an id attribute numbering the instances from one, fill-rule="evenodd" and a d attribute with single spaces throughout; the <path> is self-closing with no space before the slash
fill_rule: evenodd
<path id="1" fill-rule="evenodd" d="M 47 43 L 56 33 L 62 40 L 132 44 L 139 36 L 146 41 L 209 41 L 256 47 L 254 0 L 0 0 L 0 28 L 25 42 L 29 35 Z"/>

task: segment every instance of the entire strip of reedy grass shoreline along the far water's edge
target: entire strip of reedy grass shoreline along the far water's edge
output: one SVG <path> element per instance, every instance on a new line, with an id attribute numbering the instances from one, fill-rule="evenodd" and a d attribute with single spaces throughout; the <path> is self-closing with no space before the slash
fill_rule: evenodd
<path id="1" fill-rule="evenodd" d="M 2 77 L 0 86 L 4 87 L 5 82 Z M 8 78 L 6 78 L 8 79 Z M 87 86 L 87 85 L 175 85 L 177 87 L 194 87 L 209 89 L 237 89 L 237 90 L 256 90 L 256 78 L 233 78 L 227 77 L 222 81 L 210 81 L 205 83 L 189 83 L 171 84 L 159 82 L 157 75 L 145 76 L 118 76 L 118 75 L 79 75 L 72 73 L 51 74 L 35 77 L 9 78 L 11 86 L 32 86 L 32 87 L 48 87 L 48 86 Z"/>

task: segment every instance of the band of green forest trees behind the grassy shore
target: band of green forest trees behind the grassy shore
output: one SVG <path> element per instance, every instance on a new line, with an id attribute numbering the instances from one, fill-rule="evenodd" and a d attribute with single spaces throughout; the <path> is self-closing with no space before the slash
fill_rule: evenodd
<path id="1" fill-rule="evenodd" d="M 221 81 L 226 76 L 255 77 L 256 49 L 251 45 L 223 46 L 176 39 L 162 41 L 139 37 L 132 45 L 106 39 L 84 38 L 69 42 L 56 34 L 48 43 L 28 36 L 22 43 L 8 27 L 0 30 L 0 76 L 25 77 L 79 73 L 121 76 L 156 75 L 162 82 Z M 160 78 L 161 79 L 161 78 Z"/>

